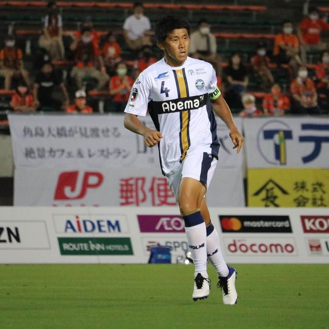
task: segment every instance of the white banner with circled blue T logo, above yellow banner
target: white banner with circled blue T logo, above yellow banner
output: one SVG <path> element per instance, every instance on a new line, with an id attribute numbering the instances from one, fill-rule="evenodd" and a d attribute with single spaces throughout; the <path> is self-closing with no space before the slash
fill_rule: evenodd
<path id="1" fill-rule="evenodd" d="M 329 118 L 247 118 L 248 168 L 329 168 Z"/>

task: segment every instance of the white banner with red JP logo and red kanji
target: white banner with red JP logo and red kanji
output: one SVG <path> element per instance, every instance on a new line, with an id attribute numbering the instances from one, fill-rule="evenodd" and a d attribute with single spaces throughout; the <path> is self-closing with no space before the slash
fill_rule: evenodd
<path id="1" fill-rule="evenodd" d="M 158 168 L 19 167 L 14 191 L 15 206 L 176 206 Z M 244 206 L 240 168 L 215 171 L 207 203 Z"/>

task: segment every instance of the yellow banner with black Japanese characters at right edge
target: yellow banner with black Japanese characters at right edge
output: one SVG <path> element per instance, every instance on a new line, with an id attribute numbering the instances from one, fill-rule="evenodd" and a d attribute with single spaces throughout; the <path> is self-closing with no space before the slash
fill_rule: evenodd
<path id="1" fill-rule="evenodd" d="M 249 207 L 329 207 L 329 169 L 249 169 Z"/>

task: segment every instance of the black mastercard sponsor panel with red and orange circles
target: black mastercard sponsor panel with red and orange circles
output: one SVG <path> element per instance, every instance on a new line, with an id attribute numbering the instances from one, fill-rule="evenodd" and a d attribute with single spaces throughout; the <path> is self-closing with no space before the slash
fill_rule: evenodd
<path id="1" fill-rule="evenodd" d="M 223 233 L 292 233 L 289 216 L 220 215 Z"/>

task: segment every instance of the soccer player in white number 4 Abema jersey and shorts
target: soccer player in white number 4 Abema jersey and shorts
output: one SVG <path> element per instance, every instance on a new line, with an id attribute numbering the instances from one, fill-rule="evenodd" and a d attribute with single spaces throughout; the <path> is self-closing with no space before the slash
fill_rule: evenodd
<path id="1" fill-rule="evenodd" d="M 164 58 L 139 74 L 125 109 L 124 126 L 142 135 L 148 147 L 158 144 L 161 169 L 184 219 L 195 266 L 193 300 L 209 295 L 208 256 L 218 272 L 224 304 L 233 305 L 238 298 L 237 272 L 223 259 L 204 198 L 218 160 L 213 111 L 230 129 L 238 153 L 243 137 L 216 86 L 212 65 L 188 57 L 190 32 L 190 24 L 175 16 L 164 16 L 157 23 L 155 37 Z M 138 119 L 147 108 L 156 130 Z"/>

